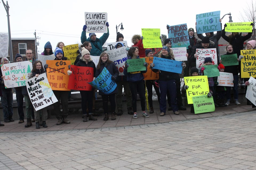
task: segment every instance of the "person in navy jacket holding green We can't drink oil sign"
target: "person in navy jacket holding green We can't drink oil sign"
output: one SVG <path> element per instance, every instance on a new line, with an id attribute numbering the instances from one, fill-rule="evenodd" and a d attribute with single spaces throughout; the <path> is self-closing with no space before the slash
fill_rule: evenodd
<path id="1" fill-rule="evenodd" d="M 145 54 L 144 54 L 145 55 Z M 128 50 L 128 59 L 135 59 L 139 58 L 139 48 L 137 46 L 132 46 Z M 143 64 L 146 67 L 145 71 L 134 71 L 134 72 L 127 72 L 127 60 L 125 61 L 123 74 L 127 75 L 127 81 L 129 82 L 131 96 L 132 96 L 132 106 L 133 106 L 133 118 L 137 119 L 137 92 L 139 92 L 139 98 L 141 99 L 141 110 L 143 117 L 149 117 L 146 113 L 146 101 L 145 101 L 145 87 L 144 87 L 144 75 L 143 73 L 147 72 L 147 63 Z"/>

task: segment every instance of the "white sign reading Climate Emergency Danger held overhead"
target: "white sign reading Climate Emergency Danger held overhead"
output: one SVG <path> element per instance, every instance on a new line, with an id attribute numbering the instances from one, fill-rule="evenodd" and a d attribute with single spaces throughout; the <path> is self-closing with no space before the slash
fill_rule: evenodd
<path id="1" fill-rule="evenodd" d="M 87 33 L 107 33 L 107 12 L 85 12 Z"/>

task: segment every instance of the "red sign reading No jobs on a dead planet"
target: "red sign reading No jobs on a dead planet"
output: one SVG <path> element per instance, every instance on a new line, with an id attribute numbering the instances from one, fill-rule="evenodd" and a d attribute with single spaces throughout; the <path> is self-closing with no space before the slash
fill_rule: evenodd
<path id="1" fill-rule="evenodd" d="M 69 75 L 68 88 L 72 90 L 91 91 L 89 82 L 93 81 L 93 67 L 70 66 L 72 74 Z"/>

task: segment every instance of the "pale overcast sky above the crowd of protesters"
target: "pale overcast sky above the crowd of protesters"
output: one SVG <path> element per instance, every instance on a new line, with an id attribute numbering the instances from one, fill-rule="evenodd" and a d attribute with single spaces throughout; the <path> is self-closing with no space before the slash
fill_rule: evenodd
<path id="1" fill-rule="evenodd" d="M 0 1 L 0 32 L 8 32 L 6 11 Z M 122 3 L 121 3 L 122 2 Z M 5 1 L 6 3 L 6 1 Z M 178 25 L 187 23 L 195 28 L 196 14 L 221 11 L 221 17 L 231 13 L 233 22 L 241 22 L 240 11 L 251 3 L 215 0 L 197 1 L 81 1 L 81 0 L 9 0 L 11 37 L 35 37 L 39 50 L 47 41 L 53 50 L 59 41 L 65 45 L 81 43 L 80 36 L 85 24 L 84 12 L 107 12 L 110 35 L 107 43 L 116 41 L 116 25 L 123 23 L 124 40 L 131 46 L 131 37 L 141 35 L 141 28 L 160 28 L 161 34 L 167 35 L 166 24 Z M 226 15 L 222 23 L 229 21 Z M 223 27 L 222 27 L 223 29 Z M 87 34 L 88 37 L 89 34 Z M 96 33 L 99 38 L 102 34 Z M 167 35 L 168 37 L 168 35 Z"/>

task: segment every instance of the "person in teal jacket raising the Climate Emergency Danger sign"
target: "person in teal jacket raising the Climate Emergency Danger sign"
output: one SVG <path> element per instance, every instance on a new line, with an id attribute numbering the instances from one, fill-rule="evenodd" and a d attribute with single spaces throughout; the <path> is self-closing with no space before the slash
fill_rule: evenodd
<path id="1" fill-rule="evenodd" d="M 95 33 L 89 33 L 89 38 L 86 38 L 86 28 L 87 26 L 83 26 L 83 31 L 81 34 L 81 43 L 83 44 L 85 41 L 89 41 L 91 43 L 91 51 L 90 54 L 92 56 L 100 56 L 102 53 L 102 45 L 107 41 L 109 37 L 109 23 L 106 22 L 107 33 L 104 33 L 100 38 L 96 37 Z"/>

